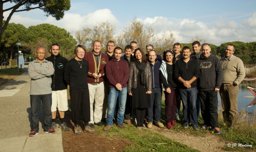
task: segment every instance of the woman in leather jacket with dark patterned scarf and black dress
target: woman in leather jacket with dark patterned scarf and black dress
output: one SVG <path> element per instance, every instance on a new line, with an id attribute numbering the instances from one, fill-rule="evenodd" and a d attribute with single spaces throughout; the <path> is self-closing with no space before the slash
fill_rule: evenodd
<path id="1" fill-rule="evenodd" d="M 130 64 L 128 79 L 128 94 L 132 96 L 132 105 L 135 109 L 137 128 L 143 127 L 146 108 L 150 107 L 150 94 L 152 91 L 151 67 L 147 62 L 142 49 L 134 51 L 133 62 Z"/>

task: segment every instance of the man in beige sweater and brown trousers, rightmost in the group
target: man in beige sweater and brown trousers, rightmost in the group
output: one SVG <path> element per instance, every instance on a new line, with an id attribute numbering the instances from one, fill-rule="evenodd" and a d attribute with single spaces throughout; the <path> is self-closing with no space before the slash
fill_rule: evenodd
<path id="1" fill-rule="evenodd" d="M 223 80 L 219 94 L 223 108 L 223 119 L 227 126 L 238 127 L 238 93 L 239 84 L 245 78 L 245 68 L 240 58 L 233 55 L 235 46 L 229 44 L 226 46 L 225 57 L 221 58 L 223 69 Z"/>

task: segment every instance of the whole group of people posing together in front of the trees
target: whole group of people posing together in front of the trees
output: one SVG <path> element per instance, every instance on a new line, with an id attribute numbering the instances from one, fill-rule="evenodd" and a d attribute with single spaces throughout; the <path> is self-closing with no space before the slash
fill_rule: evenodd
<path id="1" fill-rule="evenodd" d="M 101 51 L 100 41 L 94 41 L 92 51 L 86 53 L 82 45 L 74 49 L 75 57 L 70 61 L 60 55 L 60 46 L 51 45 L 51 56 L 45 58 L 46 51 L 39 47 L 37 59 L 29 63 L 31 78 L 31 133 L 39 131 L 39 107 L 44 110 L 44 129 L 55 134 L 58 109 L 59 128 L 68 131 L 64 122 L 67 103 L 67 85 L 70 89 L 71 114 L 74 133 L 81 135 L 79 113 L 81 109 L 84 132 L 95 133 L 95 126 L 103 126 L 104 131 L 116 125 L 122 129 L 132 122 L 138 129 L 162 128 L 161 99 L 165 94 L 165 120 L 167 128 L 176 126 L 179 119 L 181 101 L 183 105 L 183 127 L 191 126 L 199 130 L 200 109 L 203 129 L 212 129 L 222 134 L 218 128 L 219 91 L 222 100 L 223 118 L 228 126 L 237 127 L 237 97 L 239 83 L 245 77 L 245 69 L 240 58 L 233 55 L 235 47 L 230 44 L 225 57 L 220 60 L 211 54 L 210 45 L 202 46 L 198 41 L 189 47 L 175 43 L 173 50 L 157 55 L 152 45 L 146 46 L 146 54 L 138 43 L 132 41 L 122 50 L 115 47 L 114 41 L 106 44 L 105 53 Z M 200 51 L 200 49 L 202 51 Z M 124 52 L 124 53 L 123 53 Z M 230 62 L 230 63 L 229 63 Z M 162 86 L 163 85 L 163 86 Z M 201 106 L 201 107 L 200 107 Z"/>

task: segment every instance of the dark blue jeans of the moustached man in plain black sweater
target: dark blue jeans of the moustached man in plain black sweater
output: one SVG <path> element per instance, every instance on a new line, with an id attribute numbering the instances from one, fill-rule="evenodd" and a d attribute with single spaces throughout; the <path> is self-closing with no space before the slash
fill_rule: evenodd
<path id="1" fill-rule="evenodd" d="M 190 122 L 192 126 L 198 125 L 197 121 L 197 88 L 179 89 L 183 105 L 184 122 Z M 189 108 L 189 109 L 188 109 Z M 188 112 L 189 111 L 189 112 Z"/>

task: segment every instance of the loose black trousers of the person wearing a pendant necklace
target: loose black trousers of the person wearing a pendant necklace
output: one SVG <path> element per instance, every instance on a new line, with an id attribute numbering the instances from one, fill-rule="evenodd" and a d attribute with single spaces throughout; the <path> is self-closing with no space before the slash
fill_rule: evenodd
<path id="1" fill-rule="evenodd" d="M 89 89 L 70 90 L 71 114 L 72 121 L 76 124 L 79 122 L 79 110 L 82 110 L 82 118 L 84 122 L 90 121 L 90 95 Z"/>

